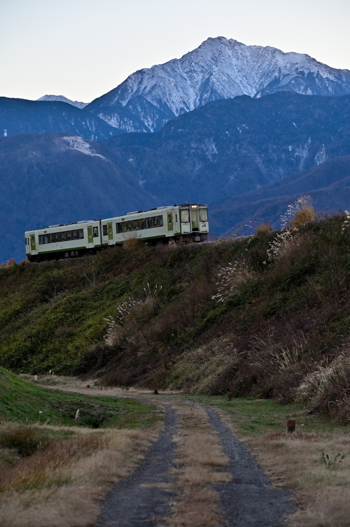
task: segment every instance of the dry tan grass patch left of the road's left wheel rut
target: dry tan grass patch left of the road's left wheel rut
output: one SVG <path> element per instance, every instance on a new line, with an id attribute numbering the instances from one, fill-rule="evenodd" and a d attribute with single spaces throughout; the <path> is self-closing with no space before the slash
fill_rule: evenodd
<path id="1" fill-rule="evenodd" d="M 72 391 L 76 384 L 77 380 L 67 379 L 64 388 Z M 85 391 L 82 387 L 81 393 Z M 55 441 L 46 450 L 24 460 L 17 458 L 14 460 L 17 463 L 6 468 L 0 477 L 0 525 L 86 527 L 94 524 L 99 500 L 112 484 L 135 469 L 146 448 L 156 440 L 161 426 L 157 423 L 152 428 L 132 431 L 70 427 L 69 431 L 76 434 L 72 438 Z"/>

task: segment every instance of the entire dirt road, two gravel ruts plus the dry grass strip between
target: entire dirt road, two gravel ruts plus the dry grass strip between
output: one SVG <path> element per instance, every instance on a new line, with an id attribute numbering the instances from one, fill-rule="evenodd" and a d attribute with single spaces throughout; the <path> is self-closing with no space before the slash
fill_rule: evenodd
<path id="1" fill-rule="evenodd" d="M 138 469 L 106 495 L 95 527 L 279 527 L 292 495 L 272 486 L 214 409 L 142 397 L 165 411 Z"/>

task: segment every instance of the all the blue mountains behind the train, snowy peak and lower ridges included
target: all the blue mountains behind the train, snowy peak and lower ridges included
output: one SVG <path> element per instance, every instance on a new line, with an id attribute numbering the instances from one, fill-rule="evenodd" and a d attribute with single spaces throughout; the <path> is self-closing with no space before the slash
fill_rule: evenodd
<path id="1" fill-rule="evenodd" d="M 278 227 L 300 193 L 349 210 L 350 72 L 307 55 L 209 38 L 84 108 L 43 99 L 0 97 L 0 263 L 28 228 L 175 201 L 214 235 Z"/>

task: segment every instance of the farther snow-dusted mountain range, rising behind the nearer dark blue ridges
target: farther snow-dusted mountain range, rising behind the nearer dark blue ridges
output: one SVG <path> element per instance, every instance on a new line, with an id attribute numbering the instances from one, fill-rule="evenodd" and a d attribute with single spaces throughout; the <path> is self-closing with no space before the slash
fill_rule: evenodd
<path id="1" fill-rule="evenodd" d="M 208 38 L 179 59 L 129 75 L 114 90 L 86 105 L 62 95 L 45 95 L 38 101 L 0 97 L 0 134 L 5 130 L 7 135 L 32 131 L 74 133 L 75 129 L 86 139 L 100 140 L 125 132 L 154 132 L 176 116 L 208 102 L 239 95 L 259 98 L 279 91 L 349 94 L 350 71 L 336 70 L 308 55 L 283 53 L 270 46 Z M 78 106 L 82 113 L 74 113 L 72 106 Z"/>

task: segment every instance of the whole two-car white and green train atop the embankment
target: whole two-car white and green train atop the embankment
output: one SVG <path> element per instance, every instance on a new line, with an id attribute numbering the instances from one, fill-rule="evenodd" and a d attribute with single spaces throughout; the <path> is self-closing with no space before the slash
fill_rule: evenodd
<path id="1" fill-rule="evenodd" d="M 29 261 L 41 262 L 95 254 L 99 249 L 122 245 L 127 240 L 140 239 L 145 243 L 205 241 L 208 233 L 206 205 L 175 203 L 104 220 L 95 218 L 28 230 L 25 250 Z"/>

